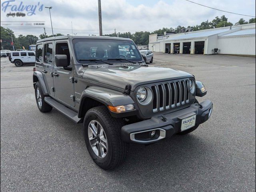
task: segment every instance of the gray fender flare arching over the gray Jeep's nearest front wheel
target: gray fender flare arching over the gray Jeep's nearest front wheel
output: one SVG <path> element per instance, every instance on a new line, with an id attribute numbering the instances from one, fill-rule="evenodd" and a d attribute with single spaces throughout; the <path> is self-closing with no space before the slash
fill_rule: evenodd
<path id="1" fill-rule="evenodd" d="M 118 92 L 115 90 L 111 90 L 108 88 L 102 88 L 98 86 L 90 86 L 86 88 L 80 97 L 79 109 L 78 109 L 78 117 L 82 117 L 83 106 L 86 102 L 86 98 L 94 99 L 106 107 L 108 106 L 120 106 L 120 105 L 128 105 L 134 104 L 132 98 L 122 92 Z M 134 111 L 133 111 L 134 112 Z M 127 114 L 128 112 L 124 112 Z M 112 116 L 115 116 L 113 112 L 111 112 Z"/>

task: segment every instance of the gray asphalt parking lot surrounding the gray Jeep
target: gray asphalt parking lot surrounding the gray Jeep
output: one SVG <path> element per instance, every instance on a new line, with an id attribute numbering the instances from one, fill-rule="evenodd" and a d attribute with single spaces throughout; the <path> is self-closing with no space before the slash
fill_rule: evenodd
<path id="1" fill-rule="evenodd" d="M 41 113 L 33 66 L 1 58 L 1 191 L 255 191 L 255 58 L 154 54 L 154 64 L 194 74 L 214 103 L 194 132 L 131 144 L 124 164 L 94 164 L 74 124 Z"/>

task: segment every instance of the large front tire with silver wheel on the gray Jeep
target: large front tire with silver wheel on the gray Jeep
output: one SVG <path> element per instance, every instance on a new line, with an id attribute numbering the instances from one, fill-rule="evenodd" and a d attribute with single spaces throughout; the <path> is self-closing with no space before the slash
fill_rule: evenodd
<path id="1" fill-rule="evenodd" d="M 106 106 L 91 108 L 84 118 L 84 140 L 94 162 L 110 170 L 121 164 L 128 144 L 121 140 L 122 120 L 113 118 Z"/>

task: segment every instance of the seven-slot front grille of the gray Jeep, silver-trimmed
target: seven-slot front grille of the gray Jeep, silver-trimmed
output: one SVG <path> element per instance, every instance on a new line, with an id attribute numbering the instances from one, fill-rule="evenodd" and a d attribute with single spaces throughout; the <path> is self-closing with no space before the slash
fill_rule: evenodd
<path id="1" fill-rule="evenodd" d="M 188 80 L 178 80 L 151 86 L 153 92 L 153 112 L 167 110 L 189 102 Z"/>

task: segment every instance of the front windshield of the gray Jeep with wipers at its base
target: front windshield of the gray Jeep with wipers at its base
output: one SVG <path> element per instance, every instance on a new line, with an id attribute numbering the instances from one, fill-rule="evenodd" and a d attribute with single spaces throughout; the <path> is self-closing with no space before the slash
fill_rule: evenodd
<path id="1" fill-rule="evenodd" d="M 125 58 L 131 61 L 142 60 L 136 45 L 129 40 L 74 39 L 73 46 L 76 60 L 80 63 L 96 63 L 95 61 L 88 61 L 90 59 L 108 60 L 108 62 L 117 62 L 111 60 L 116 58 Z M 100 63 L 100 61 L 98 62 Z M 126 61 L 124 60 L 124 62 Z"/>

